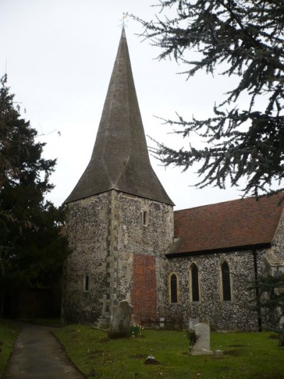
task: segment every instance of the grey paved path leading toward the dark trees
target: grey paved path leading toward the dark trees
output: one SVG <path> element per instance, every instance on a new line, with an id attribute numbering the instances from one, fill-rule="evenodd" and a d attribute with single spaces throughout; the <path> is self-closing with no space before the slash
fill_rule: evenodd
<path id="1" fill-rule="evenodd" d="M 9 379 L 82 379 L 68 360 L 60 343 L 50 333 L 54 328 L 21 324 L 6 378 Z"/>

